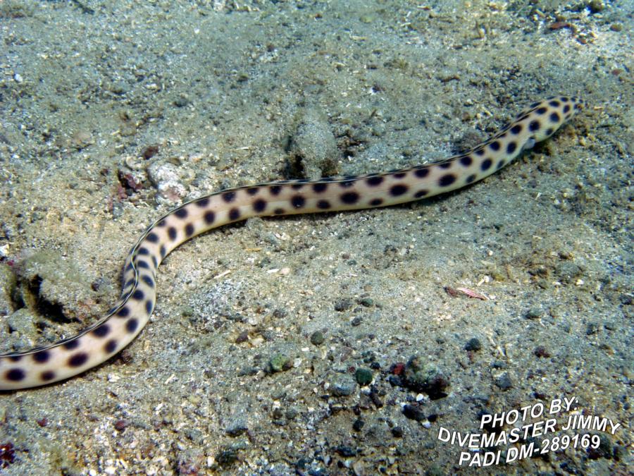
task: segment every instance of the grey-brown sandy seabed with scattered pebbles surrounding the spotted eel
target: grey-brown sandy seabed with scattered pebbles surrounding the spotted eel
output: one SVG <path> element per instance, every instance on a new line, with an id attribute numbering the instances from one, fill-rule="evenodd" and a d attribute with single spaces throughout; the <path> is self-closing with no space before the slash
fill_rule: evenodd
<path id="1" fill-rule="evenodd" d="M 99 319 L 182 201 L 442 159 L 535 100 L 586 105 L 464 190 L 183 245 L 123 353 L 0 394 L 0 473 L 630 473 L 633 13 L 1 2 L 0 352 Z"/>

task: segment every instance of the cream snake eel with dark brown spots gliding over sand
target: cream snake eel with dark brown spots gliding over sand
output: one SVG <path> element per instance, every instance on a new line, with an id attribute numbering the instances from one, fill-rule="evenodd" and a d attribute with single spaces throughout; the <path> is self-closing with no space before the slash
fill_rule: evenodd
<path id="1" fill-rule="evenodd" d="M 154 221 L 139 238 L 125 260 L 121 296 L 99 322 L 52 345 L 0 355 L 0 390 L 68 379 L 128 346 L 154 309 L 159 264 L 193 236 L 252 216 L 386 207 L 462 188 L 549 138 L 581 104 L 576 97 L 563 96 L 535 102 L 486 142 L 431 164 L 317 181 L 246 185 L 187 202 Z"/>

